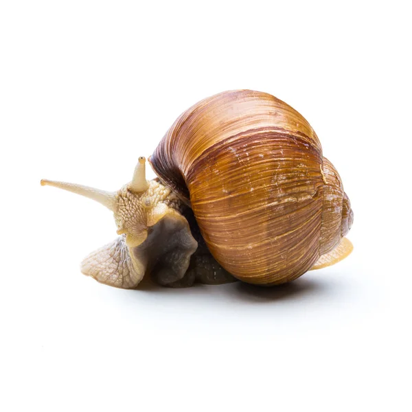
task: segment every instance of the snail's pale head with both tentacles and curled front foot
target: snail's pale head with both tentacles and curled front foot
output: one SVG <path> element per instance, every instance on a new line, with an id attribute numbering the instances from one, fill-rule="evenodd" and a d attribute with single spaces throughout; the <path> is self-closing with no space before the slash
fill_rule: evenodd
<path id="1" fill-rule="evenodd" d="M 146 273 L 159 284 L 178 282 L 197 249 L 187 220 L 171 207 L 170 190 L 146 180 L 146 159 L 139 157 L 133 179 L 117 192 L 42 180 L 42 185 L 81 194 L 113 211 L 120 236 L 90 253 L 81 270 L 103 284 L 136 288 Z"/>

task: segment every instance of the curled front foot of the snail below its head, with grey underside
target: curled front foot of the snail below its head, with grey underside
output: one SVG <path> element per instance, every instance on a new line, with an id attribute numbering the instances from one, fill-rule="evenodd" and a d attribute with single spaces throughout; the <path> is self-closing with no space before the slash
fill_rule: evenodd
<path id="1" fill-rule="evenodd" d="M 179 212 L 165 205 L 159 205 L 157 211 L 152 216 L 150 233 L 141 244 L 130 247 L 123 234 L 88 255 L 82 262 L 82 273 L 124 289 L 136 288 L 148 271 L 163 285 L 182 279 L 197 242 Z"/>

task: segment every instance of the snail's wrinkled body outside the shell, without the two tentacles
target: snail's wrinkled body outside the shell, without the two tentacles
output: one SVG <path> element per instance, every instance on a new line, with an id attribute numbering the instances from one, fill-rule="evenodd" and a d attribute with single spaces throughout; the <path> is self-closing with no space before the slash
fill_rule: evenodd
<path id="1" fill-rule="evenodd" d="M 139 194 L 122 187 L 116 203 L 120 236 L 84 259 L 84 275 L 117 288 L 136 288 L 145 275 L 174 288 L 236 280 L 209 253 L 192 210 L 158 179 Z"/>

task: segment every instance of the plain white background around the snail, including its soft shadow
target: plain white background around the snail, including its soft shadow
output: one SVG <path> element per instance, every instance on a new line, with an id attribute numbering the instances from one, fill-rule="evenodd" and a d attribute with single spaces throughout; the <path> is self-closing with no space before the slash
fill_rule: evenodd
<path id="1" fill-rule="evenodd" d="M 407 3 L 1 2 L 1 411 L 411 411 Z M 227 89 L 312 124 L 354 253 L 271 289 L 84 277 L 111 213 L 40 179 L 117 190 Z"/>

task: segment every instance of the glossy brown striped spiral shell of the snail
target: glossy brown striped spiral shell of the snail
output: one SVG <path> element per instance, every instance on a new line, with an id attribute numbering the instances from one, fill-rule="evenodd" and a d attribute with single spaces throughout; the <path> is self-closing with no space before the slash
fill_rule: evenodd
<path id="1" fill-rule="evenodd" d="M 341 178 L 316 133 L 267 93 L 227 91 L 198 102 L 149 160 L 192 207 L 217 262 L 244 282 L 296 279 L 352 225 Z"/>

